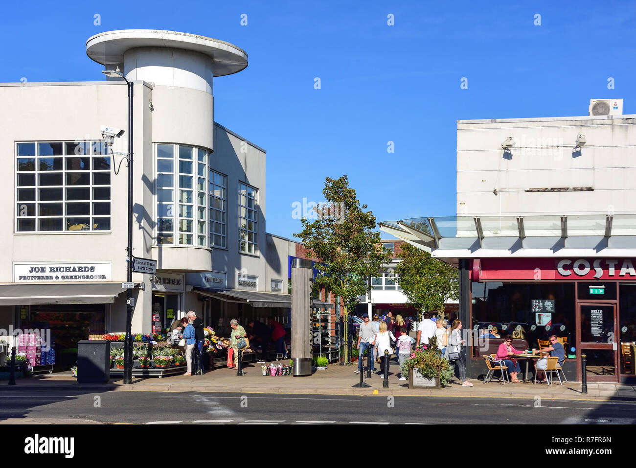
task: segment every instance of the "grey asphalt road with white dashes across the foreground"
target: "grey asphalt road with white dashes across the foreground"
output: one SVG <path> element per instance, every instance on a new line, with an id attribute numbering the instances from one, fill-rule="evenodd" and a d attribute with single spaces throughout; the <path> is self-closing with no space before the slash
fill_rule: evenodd
<path id="1" fill-rule="evenodd" d="M 73 418 L 104 423 L 634 424 L 636 402 L 471 397 L 0 392 L 0 420 Z"/>

